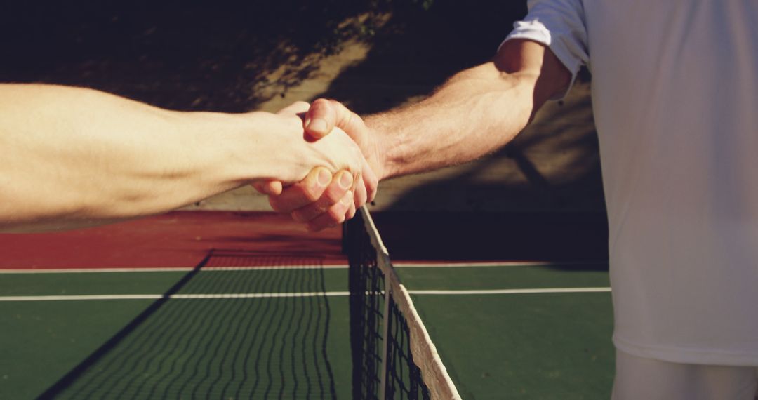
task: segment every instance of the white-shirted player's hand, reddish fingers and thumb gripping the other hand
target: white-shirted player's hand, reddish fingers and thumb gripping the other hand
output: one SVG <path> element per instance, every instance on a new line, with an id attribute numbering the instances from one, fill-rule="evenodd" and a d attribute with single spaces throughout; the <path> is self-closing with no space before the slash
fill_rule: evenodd
<path id="1" fill-rule="evenodd" d="M 299 110 L 299 105 L 292 105 L 280 113 Z M 334 100 L 318 99 L 305 114 L 305 131 L 316 139 L 327 136 L 337 126 L 344 130 L 359 145 L 366 157 L 362 169 L 362 184 L 359 183 L 352 198 L 352 204 L 342 213 L 345 205 L 340 200 L 348 195 L 346 189 L 340 186 L 344 182 L 342 172 L 336 179 L 327 182 L 327 176 L 318 174 L 324 171 L 313 170 L 301 183 L 283 189 L 280 183 L 258 183 L 255 188 L 269 195 L 269 203 L 275 211 L 290 213 L 295 220 L 308 223 L 309 230 L 321 230 L 325 227 L 342 223 L 346 218 L 352 218 L 356 208 L 374 199 L 378 185 L 377 175 L 369 166 L 378 167 L 377 146 L 373 142 L 368 127 L 361 117 L 352 113 L 344 105 Z"/>

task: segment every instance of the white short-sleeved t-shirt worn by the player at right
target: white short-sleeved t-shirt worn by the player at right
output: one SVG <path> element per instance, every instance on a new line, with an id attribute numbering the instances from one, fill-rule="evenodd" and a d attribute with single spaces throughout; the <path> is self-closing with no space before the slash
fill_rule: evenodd
<path id="1" fill-rule="evenodd" d="M 513 38 L 592 73 L 616 347 L 758 365 L 758 2 L 533 0 Z"/>

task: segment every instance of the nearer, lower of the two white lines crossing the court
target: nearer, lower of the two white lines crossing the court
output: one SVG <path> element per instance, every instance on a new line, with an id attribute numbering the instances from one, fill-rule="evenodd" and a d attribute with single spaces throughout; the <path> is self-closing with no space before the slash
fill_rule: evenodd
<path id="1" fill-rule="evenodd" d="M 609 287 L 596 288 L 546 288 L 546 289 L 491 289 L 491 290 L 409 290 L 412 295 L 518 295 L 534 293 L 597 293 L 610 292 Z M 349 292 L 302 292 L 302 293 L 218 293 L 170 295 L 171 299 L 208 298 L 296 298 L 321 296 L 346 296 Z M 27 295 L 0 296 L 0 302 L 61 302 L 69 300 L 157 300 L 164 295 Z"/>

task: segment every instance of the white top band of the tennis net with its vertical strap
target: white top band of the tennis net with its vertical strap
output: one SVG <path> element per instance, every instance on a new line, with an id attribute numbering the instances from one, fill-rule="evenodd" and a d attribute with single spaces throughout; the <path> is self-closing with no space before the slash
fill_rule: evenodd
<path id="1" fill-rule="evenodd" d="M 416 361 L 418 368 L 421 370 L 421 377 L 424 382 L 440 383 L 439 385 L 427 385 L 431 392 L 431 398 L 433 400 L 459 400 L 461 396 L 456 389 L 453 380 L 450 379 L 445 365 L 442 364 L 442 359 L 437 353 L 437 347 L 431 342 L 429 333 L 424 327 L 424 323 L 421 322 L 421 318 L 418 316 L 411 295 L 405 286 L 400 283 L 399 277 L 395 272 L 392 262 L 390 261 L 390 254 L 387 252 L 387 247 L 384 246 L 381 236 L 379 236 L 374 225 L 374 220 L 371 219 L 371 214 L 368 213 L 368 209 L 363 206 L 360 208 L 360 212 L 363 217 L 368 236 L 371 238 L 371 244 L 377 249 L 377 266 L 382 270 L 385 277 L 385 285 L 389 289 L 385 289 L 385 295 L 392 295 L 395 304 L 408 319 L 408 326 L 410 332 L 411 353 L 413 359 Z M 385 308 L 389 302 L 385 301 Z M 385 311 L 385 318 L 387 318 L 387 311 Z M 387 321 L 385 321 L 384 329 L 387 329 Z M 387 335 L 387 332 L 385 332 Z M 387 336 L 384 336 L 387 337 Z M 387 360 L 387 348 L 384 348 L 384 360 Z M 387 368 L 384 367 L 382 371 L 382 390 L 384 390 L 384 379 Z M 384 398 L 384 393 L 382 393 Z"/>

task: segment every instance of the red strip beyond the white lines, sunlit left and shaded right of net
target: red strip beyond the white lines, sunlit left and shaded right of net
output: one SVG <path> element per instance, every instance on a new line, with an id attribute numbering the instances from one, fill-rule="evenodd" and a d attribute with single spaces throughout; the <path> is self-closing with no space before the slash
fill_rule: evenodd
<path id="1" fill-rule="evenodd" d="M 375 213 L 393 261 L 606 261 L 602 214 Z M 0 269 L 196 267 L 211 252 L 246 262 L 346 264 L 339 227 L 309 233 L 273 212 L 174 211 L 59 233 L 0 234 Z"/>

